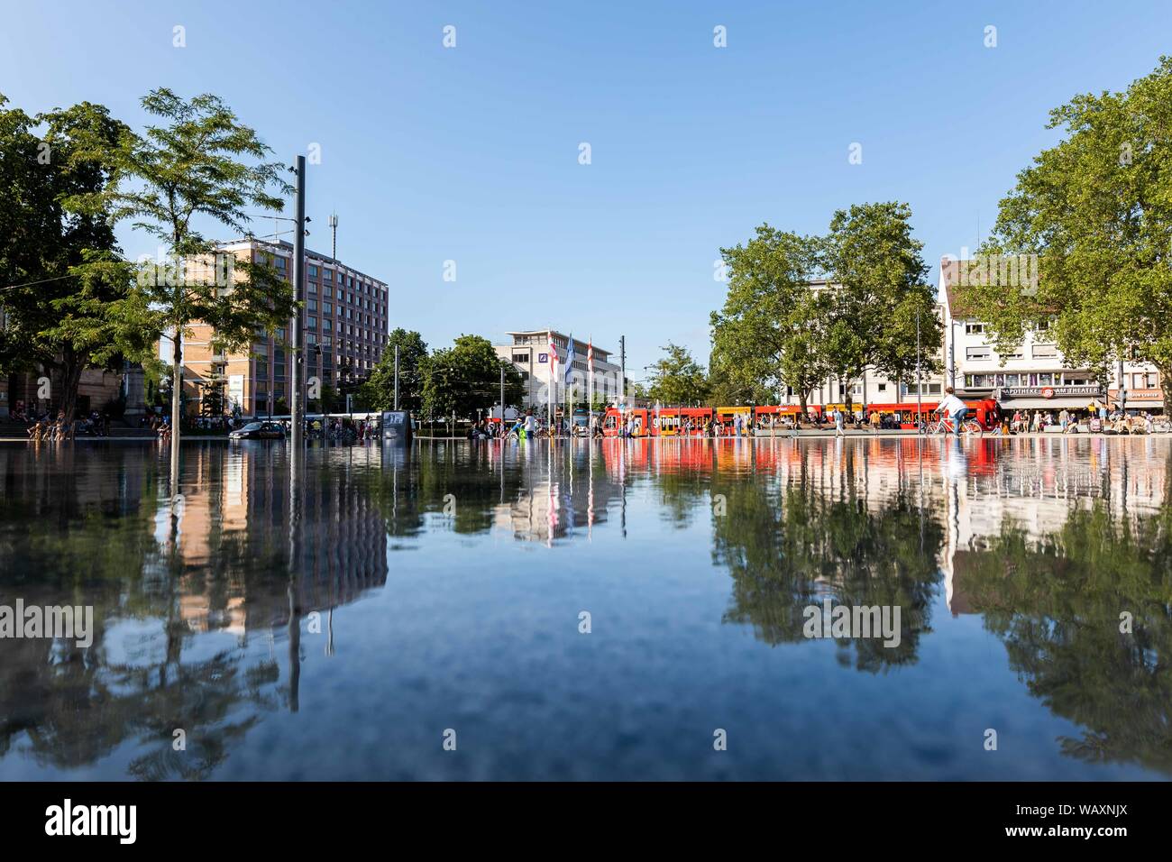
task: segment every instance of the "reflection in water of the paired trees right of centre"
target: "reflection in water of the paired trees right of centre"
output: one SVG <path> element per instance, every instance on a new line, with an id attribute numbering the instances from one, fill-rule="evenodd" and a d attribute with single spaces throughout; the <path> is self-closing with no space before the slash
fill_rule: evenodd
<path id="1" fill-rule="evenodd" d="M 871 511 L 865 500 L 834 497 L 806 478 L 778 497 L 762 482 L 722 482 L 727 514 L 714 516 L 714 559 L 732 576 L 725 620 L 749 623 L 770 644 L 804 640 L 808 605 L 899 605 L 900 644 L 840 640 L 839 660 L 877 672 L 914 663 L 929 629 L 943 528 L 902 494 Z"/>

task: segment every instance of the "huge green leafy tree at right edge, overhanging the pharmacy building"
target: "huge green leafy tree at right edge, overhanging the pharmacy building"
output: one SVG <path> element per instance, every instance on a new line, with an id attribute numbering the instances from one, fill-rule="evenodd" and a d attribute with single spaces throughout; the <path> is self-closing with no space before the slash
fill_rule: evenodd
<path id="1" fill-rule="evenodd" d="M 1000 353 L 1045 320 L 1071 366 L 1151 362 L 1172 403 L 1172 57 L 1122 93 L 1075 96 L 1048 128 L 1064 137 L 1017 175 L 982 249 L 1037 254 L 1037 281 L 976 266 L 965 299 Z"/>

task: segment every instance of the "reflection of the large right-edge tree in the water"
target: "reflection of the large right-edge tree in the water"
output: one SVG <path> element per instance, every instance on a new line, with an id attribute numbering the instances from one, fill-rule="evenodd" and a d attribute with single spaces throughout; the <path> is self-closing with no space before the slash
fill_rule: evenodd
<path id="1" fill-rule="evenodd" d="M 1096 502 L 1034 539 L 1007 521 L 962 559 L 956 578 L 1010 666 L 1084 728 L 1063 753 L 1172 772 L 1172 511 L 1119 520 Z"/>

